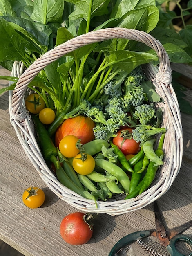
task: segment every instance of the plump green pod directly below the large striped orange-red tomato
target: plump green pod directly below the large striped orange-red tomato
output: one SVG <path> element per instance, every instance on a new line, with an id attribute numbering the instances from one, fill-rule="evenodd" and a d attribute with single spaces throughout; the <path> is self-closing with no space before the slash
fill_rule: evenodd
<path id="1" fill-rule="evenodd" d="M 83 149 L 85 150 L 85 153 L 89 155 L 96 155 L 101 151 L 102 146 L 109 148 L 110 145 L 104 139 L 95 139 L 83 144 Z"/>

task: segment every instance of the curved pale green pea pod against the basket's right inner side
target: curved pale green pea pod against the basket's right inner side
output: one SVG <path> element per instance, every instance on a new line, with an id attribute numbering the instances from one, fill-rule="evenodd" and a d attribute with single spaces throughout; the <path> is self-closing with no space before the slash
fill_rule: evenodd
<path id="1" fill-rule="evenodd" d="M 156 155 L 153 144 L 155 139 L 150 139 L 144 142 L 143 151 L 150 161 L 154 162 L 154 164 L 162 165 L 163 161 L 160 159 L 161 156 Z"/>

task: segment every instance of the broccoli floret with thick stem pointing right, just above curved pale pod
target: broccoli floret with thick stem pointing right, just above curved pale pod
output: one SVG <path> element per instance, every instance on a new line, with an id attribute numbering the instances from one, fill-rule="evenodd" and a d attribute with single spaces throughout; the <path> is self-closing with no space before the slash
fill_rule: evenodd
<path id="1" fill-rule="evenodd" d="M 136 129 L 133 130 L 132 136 L 133 136 L 133 139 L 136 142 L 140 142 L 140 146 L 142 146 L 143 143 L 147 141 L 147 139 L 150 136 L 153 136 L 161 132 L 166 132 L 166 129 L 163 127 L 154 128 L 153 126 L 150 126 L 150 125 L 139 125 L 136 127 Z"/>

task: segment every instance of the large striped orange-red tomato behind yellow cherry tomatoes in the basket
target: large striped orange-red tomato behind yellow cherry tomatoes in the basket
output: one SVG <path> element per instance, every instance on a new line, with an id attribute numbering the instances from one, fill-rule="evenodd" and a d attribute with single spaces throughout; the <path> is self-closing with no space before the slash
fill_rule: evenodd
<path id="1" fill-rule="evenodd" d="M 59 146 L 59 142 L 67 135 L 74 135 L 81 139 L 81 144 L 85 144 L 94 140 L 95 135 L 93 128 L 95 127 L 94 121 L 89 117 L 79 115 L 74 118 L 66 119 L 60 125 L 55 134 L 55 146 Z"/>

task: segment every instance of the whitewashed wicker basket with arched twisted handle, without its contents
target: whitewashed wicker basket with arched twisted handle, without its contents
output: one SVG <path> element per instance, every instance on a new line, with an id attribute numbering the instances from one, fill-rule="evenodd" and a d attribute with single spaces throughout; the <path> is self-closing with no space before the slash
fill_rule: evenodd
<path id="1" fill-rule="evenodd" d="M 154 83 L 156 92 L 164 100 L 163 103 L 159 103 L 159 107 L 164 109 L 162 126 L 167 128 L 164 142 L 165 159 L 164 165 L 159 168 L 156 179 L 147 191 L 136 198 L 128 200 L 114 198 L 107 202 L 98 201 L 98 208 L 96 208 L 94 201 L 85 199 L 60 184 L 53 172 L 48 168 L 36 142 L 33 122 L 25 109 L 24 97 L 29 93 L 29 88 L 27 87 L 29 82 L 49 63 L 84 45 L 112 38 L 125 38 L 145 43 L 154 49 L 159 57 L 159 70 L 157 67 L 148 64 L 146 66 L 146 74 Z M 15 90 L 9 94 L 11 124 L 42 180 L 61 200 L 80 211 L 118 215 L 141 209 L 166 193 L 181 167 L 183 136 L 178 101 L 171 85 L 170 61 L 165 49 L 158 40 L 145 32 L 132 29 L 109 28 L 92 31 L 50 50 L 22 73 L 23 65 L 15 62 L 12 75 L 18 76 L 20 79 Z"/>

